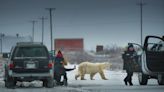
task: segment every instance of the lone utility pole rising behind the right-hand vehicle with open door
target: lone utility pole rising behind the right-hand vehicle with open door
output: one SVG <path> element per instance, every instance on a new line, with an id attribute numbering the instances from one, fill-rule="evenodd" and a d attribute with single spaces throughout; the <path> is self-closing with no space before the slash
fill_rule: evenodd
<path id="1" fill-rule="evenodd" d="M 142 30 L 142 23 L 143 23 L 143 20 L 142 20 L 142 12 L 143 12 L 143 6 L 145 5 L 146 3 L 143 2 L 143 0 L 140 0 L 140 3 L 138 4 L 140 6 L 140 26 L 141 26 L 141 46 L 143 45 L 143 42 L 142 42 L 142 37 L 143 37 L 143 30 Z"/>

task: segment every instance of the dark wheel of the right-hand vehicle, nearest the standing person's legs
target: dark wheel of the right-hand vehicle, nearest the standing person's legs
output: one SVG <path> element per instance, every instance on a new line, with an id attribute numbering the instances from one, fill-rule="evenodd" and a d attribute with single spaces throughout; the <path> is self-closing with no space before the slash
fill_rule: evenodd
<path id="1" fill-rule="evenodd" d="M 139 79 L 140 85 L 147 85 L 147 82 L 148 82 L 148 76 L 147 75 L 145 75 L 143 73 L 139 73 L 138 79 Z"/>

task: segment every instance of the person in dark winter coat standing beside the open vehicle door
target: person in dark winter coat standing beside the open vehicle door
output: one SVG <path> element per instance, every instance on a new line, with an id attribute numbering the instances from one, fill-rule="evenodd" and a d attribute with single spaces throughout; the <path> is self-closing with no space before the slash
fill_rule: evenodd
<path id="1" fill-rule="evenodd" d="M 122 55 L 123 61 L 124 61 L 124 66 L 123 68 L 126 70 L 127 76 L 124 79 L 125 85 L 132 86 L 132 76 L 133 76 L 133 69 L 134 69 L 134 60 L 135 57 L 137 56 L 136 51 L 134 50 L 134 47 L 132 44 L 128 45 L 127 50 L 124 52 Z"/>

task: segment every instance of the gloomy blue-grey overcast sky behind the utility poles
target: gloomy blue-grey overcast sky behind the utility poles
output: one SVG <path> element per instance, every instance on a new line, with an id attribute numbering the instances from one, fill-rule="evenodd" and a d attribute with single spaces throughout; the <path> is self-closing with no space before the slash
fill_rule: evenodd
<path id="1" fill-rule="evenodd" d="M 50 48 L 49 12 L 53 7 L 53 38 L 84 38 L 85 49 L 96 45 L 140 43 L 140 0 L 0 0 L 0 33 L 28 36 L 35 25 L 41 41 L 41 16 L 46 16 L 44 43 Z M 143 36 L 164 35 L 164 0 L 144 0 Z"/>

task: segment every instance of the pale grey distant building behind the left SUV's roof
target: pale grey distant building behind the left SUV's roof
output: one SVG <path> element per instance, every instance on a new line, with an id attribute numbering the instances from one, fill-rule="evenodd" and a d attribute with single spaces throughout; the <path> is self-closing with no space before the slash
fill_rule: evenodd
<path id="1" fill-rule="evenodd" d="M 15 36 L 1 35 L 0 36 L 0 52 L 10 52 L 12 46 L 16 45 L 17 42 L 32 42 L 31 36 Z"/>

